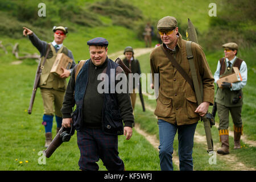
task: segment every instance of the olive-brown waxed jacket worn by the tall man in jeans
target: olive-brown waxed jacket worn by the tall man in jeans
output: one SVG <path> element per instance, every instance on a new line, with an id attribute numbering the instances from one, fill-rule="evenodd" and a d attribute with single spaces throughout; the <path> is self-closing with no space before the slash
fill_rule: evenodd
<path id="1" fill-rule="evenodd" d="M 196 123 L 199 121 L 200 116 L 195 113 L 198 106 L 195 91 L 183 76 L 180 75 L 177 69 L 174 68 L 171 61 L 168 60 L 162 50 L 162 46 L 166 48 L 166 45 L 162 44 L 156 47 L 150 55 L 153 81 L 154 74 L 159 73 L 159 96 L 157 98 L 155 115 L 158 116 L 158 119 L 163 119 L 173 124 L 176 123 L 177 125 Z M 176 57 L 176 61 L 191 77 L 185 46 L 186 41 L 179 35 L 176 46 L 177 52 L 174 53 L 174 57 Z M 203 102 L 210 102 L 210 105 L 212 105 L 214 101 L 214 78 L 212 72 L 210 72 L 201 46 L 192 43 L 191 48 L 197 77 L 199 80 L 201 78 L 203 82 Z"/>

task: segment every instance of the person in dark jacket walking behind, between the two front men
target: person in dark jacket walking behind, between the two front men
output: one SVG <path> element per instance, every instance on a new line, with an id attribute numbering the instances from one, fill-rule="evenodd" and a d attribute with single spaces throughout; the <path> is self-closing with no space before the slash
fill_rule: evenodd
<path id="1" fill-rule="evenodd" d="M 134 59 L 133 48 L 130 46 L 126 47 L 125 51 L 123 51 L 123 54 L 125 55 L 125 59 L 123 59 L 123 63 L 126 65 L 127 68 L 130 69 L 131 73 L 133 74 L 138 73 L 138 75 L 141 75 L 141 67 L 139 65 L 139 61 L 137 59 Z M 129 81 L 129 78 L 128 78 L 128 81 Z M 135 107 L 136 94 L 137 94 L 135 93 L 135 88 L 139 89 L 139 85 L 135 85 L 135 81 L 133 80 L 133 93 L 130 93 L 131 105 L 133 106 L 133 110 Z"/>

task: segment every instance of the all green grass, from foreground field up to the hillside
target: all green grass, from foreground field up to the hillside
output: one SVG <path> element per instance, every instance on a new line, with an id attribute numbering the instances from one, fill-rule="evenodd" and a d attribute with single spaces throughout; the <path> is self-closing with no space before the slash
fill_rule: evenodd
<path id="1" fill-rule="evenodd" d="M 84 0 L 77 0 L 79 6 L 84 6 Z M 86 2 L 96 2 L 88 0 Z M 190 18 L 196 26 L 199 34 L 205 32 L 209 27 L 209 3 L 214 1 L 135 1 L 131 0 L 134 6 L 139 7 L 145 19 L 156 20 L 166 15 L 176 16 L 179 23 L 183 26 L 187 23 L 187 18 Z M 174 3 L 175 2 L 175 3 Z M 53 2 L 51 2 L 53 3 Z M 51 4 L 50 3 L 50 4 Z M 195 6 L 194 6 L 195 5 Z M 37 8 L 37 7 L 36 7 Z M 0 12 L 1 21 L 13 23 L 14 18 L 10 18 L 7 14 Z M 77 24 L 72 24 L 72 28 L 65 46 L 72 50 L 76 63 L 81 59 L 89 57 L 88 46 L 86 42 L 96 36 L 102 36 L 109 41 L 108 54 L 121 51 L 126 46 L 133 48 L 144 47 L 143 40 L 138 40 L 137 32 L 129 30 L 122 26 L 113 25 L 112 19 L 107 16 L 99 15 L 102 22 L 107 26 L 99 24 L 97 27 L 85 27 Z M 125 19 L 123 20 L 125 21 Z M 14 22 L 15 24 L 15 22 Z M 30 24 L 19 24 L 18 31 L 15 34 L 22 34 L 22 26 L 30 26 Z M 28 27 L 29 28 L 29 27 Z M 39 30 L 40 27 L 37 29 Z M 35 33 L 37 33 L 35 31 Z M 41 32 L 42 34 L 42 32 Z M 46 35 L 45 35 L 46 36 Z M 39 38 L 41 38 L 39 36 Z M 27 38 L 14 39 L 5 35 L 0 36 L 3 45 L 19 43 L 19 54 L 38 53 L 38 50 L 32 46 Z M 49 40 L 52 40 L 49 38 Z M 155 45 L 153 42 L 152 45 Z M 51 158 L 46 159 L 46 164 L 39 164 L 39 152 L 43 151 L 44 146 L 44 126 L 42 123 L 43 117 L 43 102 L 40 96 L 40 89 L 36 94 L 34 108 L 32 114 L 27 114 L 28 105 L 32 93 L 32 86 L 36 72 L 37 63 L 34 60 L 26 59 L 22 64 L 14 65 L 15 56 L 12 55 L 11 47 L 7 47 L 9 52 L 7 55 L 0 49 L 0 170 L 2 171 L 32 171 L 32 170 L 79 170 L 78 160 L 80 151 L 77 147 L 77 138 L 74 135 L 70 142 L 63 143 Z M 205 51 L 208 63 L 212 73 L 215 72 L 218 59 L 222 57 L 222 49 L 216 52 Z M 135 55 L 136 56 L 136 55 Z M 248 67 L 248 81 L 243 89 L 244 105 L 242 110 L 243 131 L 247 139 L 256 140 L 256 47 L 250 49 L 242 49 L 238 52 L 238 56 L 246 61 Z M 137 57 L 141 63 L 143 73 L 150 72 L 149 54 Z M 138 97 L 138 96 L 137 96 Z M 144 102 L 147 107 L 155 109 L 155 100 L 148 100 L 144 96 Z M 211 110 L 211 108 L 210 108 Z M 135 122 L 139 123 L 141 128 L 149 134 L 155 135 L 159 139 L 158 126 L 156 117 L 152 111 L 146 110 L 143 113 L 141 104 L 137 102 L 135 107 Z M 218 117 L 216 117 L 218 122 Z M 233 130 L 233 123 L 230 117 L 230 132 Z M 55 134 L 56 123 L 53 121 L 53 134 Z M 204 136 L 203 123 L 199 122 L 196 129 L 199 135 Z M 219 143 L 218 130 L 212 127 L 212 135 L 214 143 Z M 233 138 L 230 137 L 230 147 L 233 147 Z M 141 170 L 141 171 L 158 171 L 159 156 L 151 144 L 137 131 L 134 130 L 133 137 L 130 140 L 125 140 L 125 137 L 119 136 L 119 156 L 125 162 L 126 170 Z M 242 142 L 241 150 L 230 150 L 231 154 L 236 156 L 236 159 L 243 162 L 247 167 L 256 167 L 255 147 L 249 147 L 248 144 Z M 177 153 L 177 138 L 174 143 L 175 152 Z M 216 150 L 217 148 L 214 148 Z M 210 165 L 208 163 L 209 155 L 207 154 L 207 146 L 203 142 L 195 142 L 193 148 L 193 162 L 195 170 L 235 170 L 234 163 L 227 163 L 217 156 L 217 164 Z M 39 155 L 38 155 L 39 154 Z M 27 162 L 26 162 L 27 161 Z M 106 170 L 102 162 L 98 162 L 100 170 Z M 174 169 L 178 167 L 175 165 Z"/>

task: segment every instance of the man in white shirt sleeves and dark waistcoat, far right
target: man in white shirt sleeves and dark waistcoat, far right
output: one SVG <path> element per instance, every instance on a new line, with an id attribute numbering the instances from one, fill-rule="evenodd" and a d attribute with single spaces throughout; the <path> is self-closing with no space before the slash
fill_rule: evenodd
<path id="1" fill-rule="evenodd" d="M 229 154 L 229 111 L 234 123 L 234 149 L 241 148 L 240 138 L 242 134 L 242 105 L 243 94 L 242 88 L 247 81 L 247 66 L 245 61 L 237 57 L 238 46 L 236 43 L 226 43 L 222 45 L 224 48 L 225 57 L 218 61 L 216 72 L 214 73 L 214 80 L 225 77 L 232 73 L 233 67 L 238 67 L 242 81 L 231 83 L 222 82 L 222 88 L 217 88 L 215 101 L 217 104 L 218 118 L 220 118 L 220 125 L 218 127 L 221 148 L 217 150 L 218 154 Z"/>

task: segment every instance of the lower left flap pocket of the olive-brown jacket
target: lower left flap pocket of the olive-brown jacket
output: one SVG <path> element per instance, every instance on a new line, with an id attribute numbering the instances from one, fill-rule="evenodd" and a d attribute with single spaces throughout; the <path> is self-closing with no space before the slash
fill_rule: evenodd
<path id="1" fill-rule="evenodd" d="M 156 109 L 154 114 L 159 117 L 168 117 L 172 110 L 172 99 L 159 94 L 156 101 Z"/>

